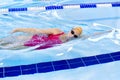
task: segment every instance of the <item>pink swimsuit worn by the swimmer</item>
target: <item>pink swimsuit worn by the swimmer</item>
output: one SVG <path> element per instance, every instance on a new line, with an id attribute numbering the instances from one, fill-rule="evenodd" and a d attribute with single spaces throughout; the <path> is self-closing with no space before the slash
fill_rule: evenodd
<path id="1" fill-rule="evenodd" d="M 63 35 L 64 32 L 59 34 L 50 34 L 48 36 L 40 36 L 38 34 L 33 35 L 33 37 L 24 43 L 24 46 L 36 46 L 40 45 L 37 49 L 45 49 L 54 46 L 55 44 L 61 44 L 60 35 Z"/>

